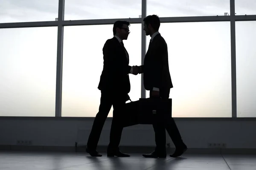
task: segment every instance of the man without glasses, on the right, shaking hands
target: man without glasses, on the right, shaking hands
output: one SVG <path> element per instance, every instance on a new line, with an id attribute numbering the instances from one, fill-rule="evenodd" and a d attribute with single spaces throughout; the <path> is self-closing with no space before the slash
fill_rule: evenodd
<path id="1" fill-rule="evenodd" d="M 170 89 L 173 88 L 169 72 L 167 44 L 159 33 L 160 19 L 157 15 L 149 15 L 143 19 L 144 31 L 151 40 L 145 55 L 144 65 L 139 73 L 143 73 L 144 87 L 150 91 L 150 97 L 168 99 Z M 180 132 L 171 115 L 166 114 L 164 123 L 153 124 L 156 148 L 150 154 L 143 154 L 146 158 L 166 157 L 166 130 L 175 144 L 175 153 L 171 157 L 181 156 L 187 149 L 181 139 Z"/>

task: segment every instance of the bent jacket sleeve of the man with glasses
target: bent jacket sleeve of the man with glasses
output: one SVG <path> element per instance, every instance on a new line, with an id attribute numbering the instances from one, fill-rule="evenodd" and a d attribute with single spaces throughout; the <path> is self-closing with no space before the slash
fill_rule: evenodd
<path id="1" fill-rule="evenodd" d="M 103 47 L 104 64 L 113 76 L 125 76 L 130 73 L 131 66 L 123 65 L 121 57 L 117 54 L 115 45 L 107 40 Z"/>

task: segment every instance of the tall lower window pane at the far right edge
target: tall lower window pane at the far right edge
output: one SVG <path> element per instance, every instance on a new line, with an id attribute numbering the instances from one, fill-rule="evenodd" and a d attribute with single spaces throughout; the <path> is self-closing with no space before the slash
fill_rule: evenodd
<path id="1" fill-rule="evenodd" d="M 256 21 L 236 22 L 237 117 L 256 117 Z"/>

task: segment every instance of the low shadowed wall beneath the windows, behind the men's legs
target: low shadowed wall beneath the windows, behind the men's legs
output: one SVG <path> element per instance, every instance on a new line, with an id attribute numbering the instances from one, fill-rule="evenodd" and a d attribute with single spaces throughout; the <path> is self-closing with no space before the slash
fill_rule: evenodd
<path id="1" fill-rule="evenodd" d="M 0 118 L 0 145 L 32 140 L 32 145 L 36 146 L 74 146 L 77 138 L 86 143 L 92 123 L 90 118 Z M 208 142 L 226 143 L 227 148 L 256 148 L 255 119 L 176 119 L 176 123 L 189 148 L 207 148 Z M 110 125 L 111 120 L 107 120 L 99 145 L 108 145 Z M 120 145 L 154 146 L 152 126 L 126 127 Z"/>

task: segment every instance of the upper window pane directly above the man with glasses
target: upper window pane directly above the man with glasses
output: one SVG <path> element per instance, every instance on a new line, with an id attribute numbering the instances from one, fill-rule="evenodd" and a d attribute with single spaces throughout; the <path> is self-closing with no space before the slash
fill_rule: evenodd
<path id="1" fill-rule="evenodd" d="M 65 20 L 139 18 L 141 0 L 65 0 Z"/>

